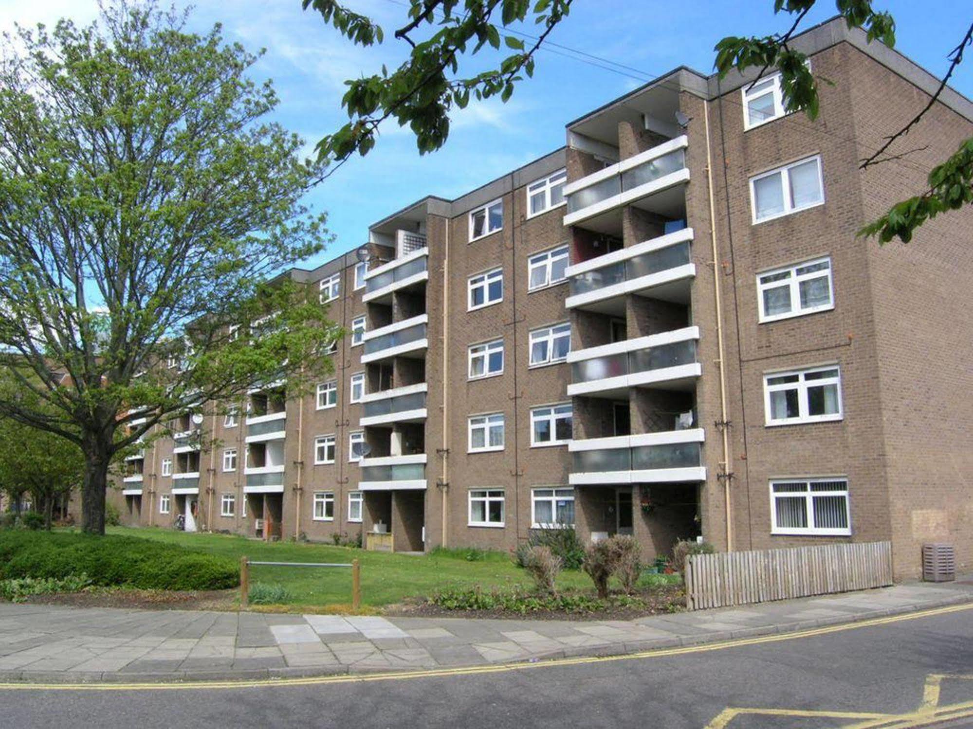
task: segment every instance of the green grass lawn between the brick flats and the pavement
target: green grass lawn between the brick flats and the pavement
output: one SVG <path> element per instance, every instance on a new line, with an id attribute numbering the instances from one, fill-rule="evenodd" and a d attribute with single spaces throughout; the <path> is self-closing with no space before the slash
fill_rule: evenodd
<path id="1" fill-rule="evenodd" d="M 263 542 L 228 535 L 187 534 L 169 529 L 113 527 L 112 534 L 168 541 L 236 560 L 243 555 L 250 560 L 268 562 L 351 562 L 361 563 L 362 603 L 384 606 L 406 598 L 428 595 L 447 586 L 485 589 L 529 586 L 530 577 L 514 566 L 501 552 L 486 552 L 480 561 L 467 561 L 452 554 L 424 556 L 366 552 L 364 549 Z M 337 606 L 351 603 L 351 571 L 313 568 L 262 567 L 250 569 L 250 582 L 280 584 L 293 596 L 295 605 Z M 559 574 L 561 589 L 591 589 L 592 581 L 581 571 Z"/>

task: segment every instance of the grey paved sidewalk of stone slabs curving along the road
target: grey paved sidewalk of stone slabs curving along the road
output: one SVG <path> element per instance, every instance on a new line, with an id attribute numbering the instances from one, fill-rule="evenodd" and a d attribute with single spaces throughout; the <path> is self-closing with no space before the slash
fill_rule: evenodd
<path id="1" fill-rule="evenodd" d="M 973 583 L 897 585 L 631 621 L 340 617 L 0 604 L 0 680 L 320 676 L 609 655 L 973 602 Z"/>

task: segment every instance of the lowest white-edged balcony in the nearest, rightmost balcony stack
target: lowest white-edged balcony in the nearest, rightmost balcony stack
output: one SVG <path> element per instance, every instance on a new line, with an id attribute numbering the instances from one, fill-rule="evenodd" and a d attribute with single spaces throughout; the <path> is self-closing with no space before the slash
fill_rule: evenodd
<path id="1" fill-rule="evenodd" d="M 706 480 L 703 429 L 572 440 L 572 486 Z"/>

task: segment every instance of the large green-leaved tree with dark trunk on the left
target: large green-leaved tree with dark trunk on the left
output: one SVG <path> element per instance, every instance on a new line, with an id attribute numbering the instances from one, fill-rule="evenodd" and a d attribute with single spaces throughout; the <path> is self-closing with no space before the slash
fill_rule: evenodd
<path id="1" fill-rule="evenodd" d="M 323 167 L 267 120 L 259 56 L 187 17 L 117 0 L 87 27 L 18 28 L 0 62 L 0 365 L 17 385 L 0 416 L 81 449 L 95 534 L 138 437 L 299 386 L 338 333 L 290 280 L 264 283 L 321 250 L 301 197 Z"/>

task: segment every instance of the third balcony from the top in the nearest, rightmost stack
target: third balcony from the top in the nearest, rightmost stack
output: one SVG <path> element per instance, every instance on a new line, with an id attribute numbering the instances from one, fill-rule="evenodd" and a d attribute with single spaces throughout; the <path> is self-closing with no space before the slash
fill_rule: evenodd
<path id="1" fill-rule="evenodd" d="M 702 374 L 699 338 L 699 327 L 686 327 L 570 352 L 567 394 L 626 399 L 630 387 L 692 391 Z"/>

